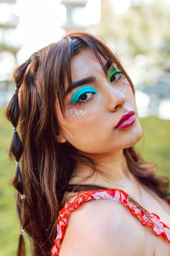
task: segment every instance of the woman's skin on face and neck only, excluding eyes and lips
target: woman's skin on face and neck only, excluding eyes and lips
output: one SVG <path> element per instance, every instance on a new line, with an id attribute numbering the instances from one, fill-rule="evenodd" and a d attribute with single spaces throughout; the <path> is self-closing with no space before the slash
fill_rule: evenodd
<path id="1" fill-rule="evenodd" d="M 111 69 L 112 67 L 108 72 Z M 75 103 L 68 104 L 72 95 L 85 85 L 73 89 L 67 95 L 66 112 L 73 108 L 77 111 L 87 110 L 86 118 L 83 117 L 83 120 L 76 118 L 71 122 L 69 115 L 67 115 L 67 120 L 64 120 L 58 100 L 56 100 L 55 110 L 61 130 L 58 142 L 68 141 L 78 150 L 88 153 L 89 157 L 105 167 L 106 171 L 102 169 L 102 172 L 109 173 L 110 180 L 129 183 L 131 176 L 123 155 L 123 148 L 134 145 L 142 137 L 142 128 L 131 85 L 124 78 L 109 83 L 108 77 L 91 49 L 84 49 L 72 58 L 71 75 L 73 81 L 95 76 L 96 81 L 89 85 L 97 91 L 97 94 L 91 101 L 80 106 Z M 68 81 L 66 80 L 65 88 L 67 87 Z M 88 95 L 90 97 L 92 94 Z M 121 117 L 130 110 L 135 111 L 135 123 L 127 128 L 115 130 Z"/>

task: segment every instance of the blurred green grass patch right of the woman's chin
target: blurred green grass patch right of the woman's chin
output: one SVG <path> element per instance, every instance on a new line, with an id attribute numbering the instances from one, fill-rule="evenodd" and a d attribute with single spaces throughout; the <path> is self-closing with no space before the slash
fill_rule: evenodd
<path id="1" fill-rule="evenodd" d="M 170 179 L 170 120 L 141 118 L 142 139 L 135 145 L 147 162 L 157 164 L 156 174 Z"/>

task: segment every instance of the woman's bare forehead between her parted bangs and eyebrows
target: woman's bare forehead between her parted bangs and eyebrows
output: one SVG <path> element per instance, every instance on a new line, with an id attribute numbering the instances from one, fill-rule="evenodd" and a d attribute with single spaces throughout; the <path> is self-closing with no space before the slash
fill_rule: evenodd
<path id="1" fill-rule="evenodd" d="M 103 63 L 106 60 L 101 56 Z M 94 71 L 101 70 L 102 67 L 91 49 L 83 49 L 80 53 L 73 56 L 71 60 L 72 80 L 79 80 L 92 75 Z"/>

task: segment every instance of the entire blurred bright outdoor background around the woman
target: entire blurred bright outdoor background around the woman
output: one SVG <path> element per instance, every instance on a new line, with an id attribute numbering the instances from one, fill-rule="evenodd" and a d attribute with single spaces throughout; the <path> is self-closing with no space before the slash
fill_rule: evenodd
<path id="1" fill-rule="evenodd" d="M 12 71 L 71 28 L 100 36 L 118 55 L 143 128 L 135 147 L 170 178 L 170 0 L 0 0 L 0 256 L 16 255 L 20 232 L 9 185 L 16 166 L 6 153 L 13 131 L 3 114 Z"/>

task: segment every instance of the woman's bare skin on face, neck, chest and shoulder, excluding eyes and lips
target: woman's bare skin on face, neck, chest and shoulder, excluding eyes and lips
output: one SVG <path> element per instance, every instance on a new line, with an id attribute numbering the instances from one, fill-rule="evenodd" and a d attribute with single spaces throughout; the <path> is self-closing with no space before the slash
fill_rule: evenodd
<path id="1" fill-rule="evenodd" d="M 105 60 L 103 61 L 105 63 Z M 97 94 L 94 94 L 93 99 L 86 104 L 69 105 L 74 93 L 87 85 L 73 89 L 65 99 L 67 120 L 64 120 L 56 100 L 55 111 L 60 122 L 58 142 L 67 141 L 78 150 L 87 153 L 100 164 L 98 169 L 106 179 L 136 186 L 123 154 L 123 148 L 135 145 L 142 137 L 131 85 L 124 78 L 110 83 L 90 49 L 84 49 L 72 58 L 71 75 L 73 82 L 95 76 L 96 81 L 89 86 L 93 87 Z M 66 80 L 65 89 L 67 87 Z M 89 94 L 90 96 L 92 94 Z M 86 118 L 84 118 L 85 115 L 83 118 L 76 116 L 73 121 L 73 114 L 70 112 L 73 108 L 77 112 L 85 111 Z M 121 117 L 130 110 L 135 111 L 135 122 L 127 128 L 115 130 Z M 88 169 L 87 166 L 81 167 Z M 79 183 L 79 177 L 87 177 L 87 173 L 78 167 L 73 173 L 75 177 L 71 178 L 70 182 L 73 184 Z M 135 188 L 119 187 L 99 177 L 96 179 L 96 176 L 90 178 L 87 183 L 124 190 L 150 213 L 159 215 L 161 220 L 170 227 L 169 205 L 152 191 L 148 192 L 144 185 L 140 186 L 140 195 Z M 67 197 L 67 193 L 65 195 Z M 68 193 L 68 196 L 70 195 L 72 194 Z M 70 202 L 75 197 L 71 198 Z M 149 225 L 141 225 L 140 217 L 132 215 L 120 202 L 92 200 L 83 203 L 76 211 L 69 214 L 59 256 L 68 254 L 74 256 L 166 256 L 169 253 L 169 243 L 164 238 L 156 236 Z"/>

